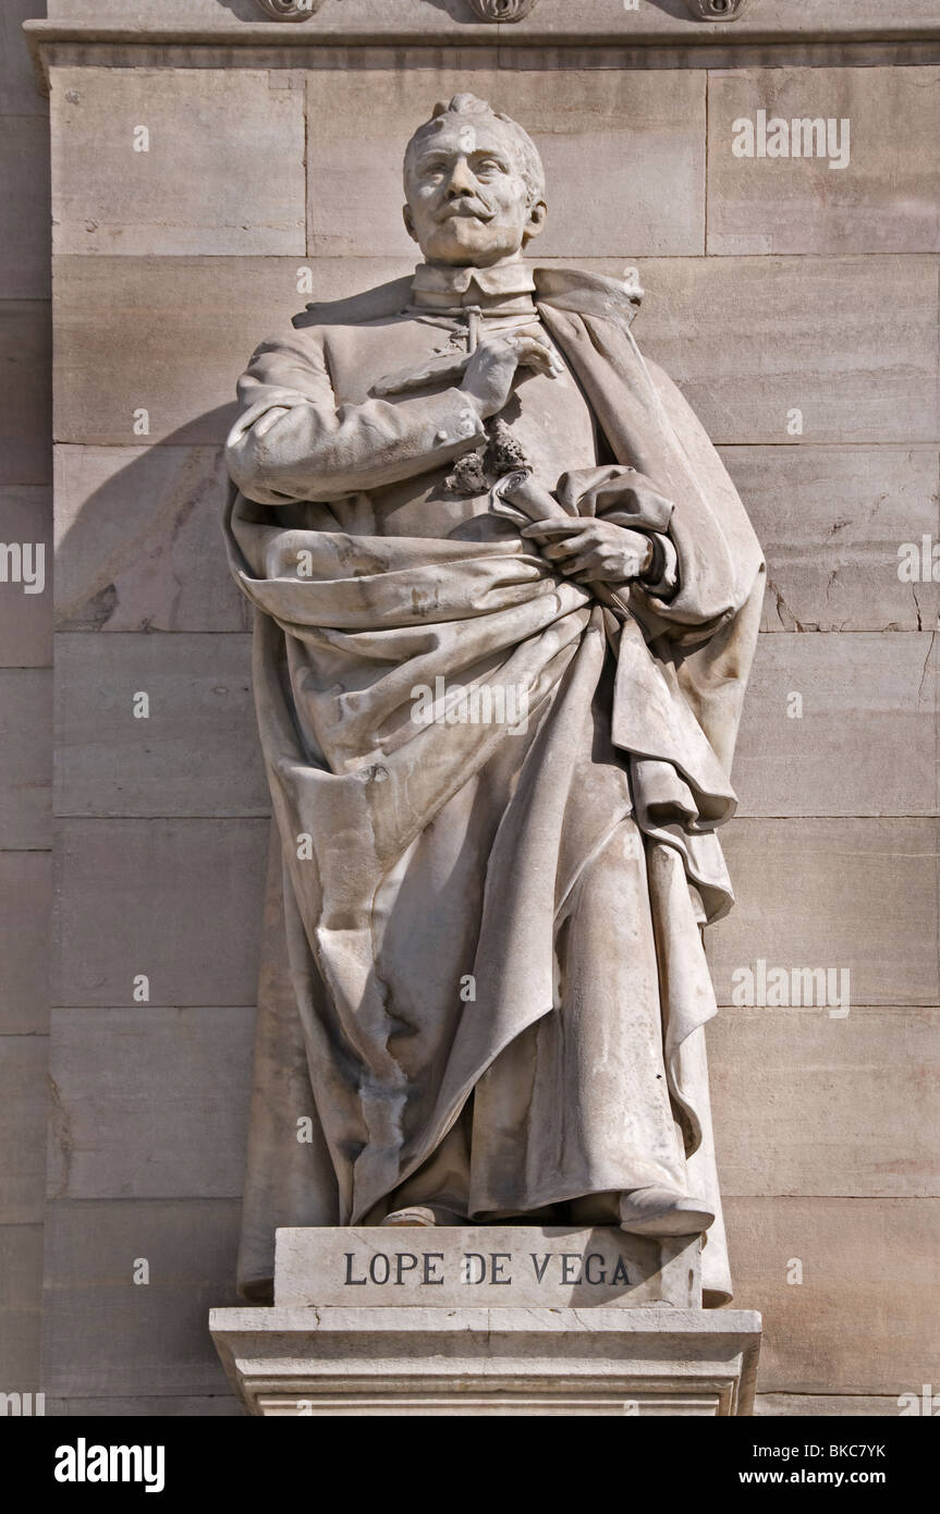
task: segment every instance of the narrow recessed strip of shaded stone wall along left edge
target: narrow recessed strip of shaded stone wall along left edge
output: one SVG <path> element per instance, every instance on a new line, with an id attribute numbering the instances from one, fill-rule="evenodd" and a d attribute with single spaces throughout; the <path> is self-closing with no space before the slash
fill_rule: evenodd
<path id="1" fill-rule="evenodd" d="M 0 1391 L 21 1394 L 41 1387 L 51 908 L 48 106 L 20 35 L 41 14 L 0 11 L 0 542 L 20 553 L 0 581 Z"/>

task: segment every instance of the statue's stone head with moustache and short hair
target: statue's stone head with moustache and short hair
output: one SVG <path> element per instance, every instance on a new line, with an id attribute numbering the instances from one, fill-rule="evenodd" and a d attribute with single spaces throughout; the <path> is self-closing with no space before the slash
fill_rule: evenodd
<path id="1" fill-rule="evenodd" d="M 510 117 L 459 94 L 410 139 L 404 197 L 404 224 L 427 262 L 487 268 L 542 230 L 542 159 Z"/>

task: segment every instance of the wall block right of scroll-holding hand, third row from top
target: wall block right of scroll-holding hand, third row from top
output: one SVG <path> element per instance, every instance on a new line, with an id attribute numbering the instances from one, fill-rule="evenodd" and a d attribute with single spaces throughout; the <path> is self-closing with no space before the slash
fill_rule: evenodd
<path id="1" fill-rule="evenodd" d="M 940 542 L 931 448 L 725 447 L 767 557 L 767 631 L 929 631 L 940 584 L 898 577 L 898 548 Z"/>

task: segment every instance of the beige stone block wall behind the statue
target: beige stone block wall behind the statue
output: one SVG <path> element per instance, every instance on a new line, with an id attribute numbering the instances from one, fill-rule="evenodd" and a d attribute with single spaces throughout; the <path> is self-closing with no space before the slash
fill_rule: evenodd
<path id="1" fill-rule="evenodd" d="M 714 29 L 707 48 L 678 0 L 643 0 L 637 26 L 661 38 L 642 48 L 619 5 L 605 26 L 621 47 L 601 6 L 560 0 L 512 35 L 469 24 L 463 0 L 401 0 L 413 35 L 395 47 L 377 0 L 327 0 L 303 41 L 259 32 L 253 0 L 132 8 L 218 32 L 210 47 L 79 35 L 123 21 L 124 0 L 50 3 L 79 29 L 42 47 L 58 913 L 41 1378 L 48 593 L 0 586 L 15 1122 L 0 1245 L 23 1340 L 3 1366 L 50 1413 L 236 1411 L 206 1311 L 235 1302 L 269 822 L 218 530 L 221 441 L 262 335 L 413 266 L 401 147 L 457 89 L 510 111 L 543 151 L 539 262 L 639 269 L 639 341 L 721 447 L 767 553 L 727 833 L 739 904 L 710 940 L 727 1005 L 710 1028 L 719 1170 L 736 1297 L 764 1313 L 760 1413 L 896 1414 L 935 1378 L 937 586 L 902 581 L 898 548 L 940 537 L 940 27 L 932 44 L 855 47 L 781 30 L 770 48 L 754 30 L 764 6 L 734 23 L 752 27 L 742 41 Z M 805 9 L 822 27 L 823 0 Z M 852 9 L 863 38 L 882 8 Z M 917 0 L 893 9 L 929 20 Z M 253 45 L 232 39 L 239 24 Z M 335 45 L 316 45 L 330 27 Z M 342 45 L 342 27 L 372 29 L 374 45 Z M 0 244 L 0 536 L 36 540 L 45 106 L 24 50 L 9 58 L 3 151 L 23 215 Z M 734 156 L 733 123 L 761 109 L 848 120 L 849 164 Z M 733 1004 L 758 960 L 848 969 L 849 1013 Z"/>

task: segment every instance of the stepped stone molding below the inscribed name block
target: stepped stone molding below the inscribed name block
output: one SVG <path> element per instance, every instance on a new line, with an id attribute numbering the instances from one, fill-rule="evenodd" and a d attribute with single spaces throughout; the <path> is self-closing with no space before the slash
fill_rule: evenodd
<path id="1" fill-rule="evenodd" d="M 251 1414 L 751 1414 L 760 1316 L 244 1308 L 210 1331 Z"/>

